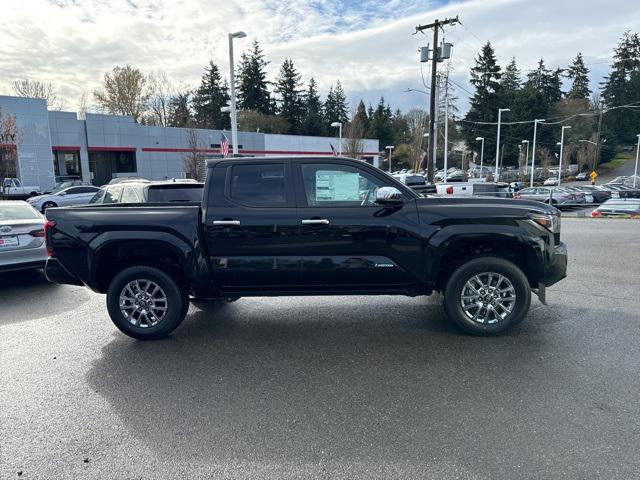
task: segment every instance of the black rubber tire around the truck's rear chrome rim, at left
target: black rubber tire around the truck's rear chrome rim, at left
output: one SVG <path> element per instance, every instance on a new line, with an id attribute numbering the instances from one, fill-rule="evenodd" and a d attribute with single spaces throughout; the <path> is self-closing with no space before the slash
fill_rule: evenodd
<path id="1" fill-rule="evenodd" d="M 155 325 L 136 326 L 120 311 L 120 294 L 129 282 L 135 280 L 154 282 L 166 297 L 166 312 Z M 166 337 L 182 323 L 188 309 L 189 299 L 186 289 L 162 270 L 146 265 L 129 267 L 121 271 L 113 278 L 107 290 L 107 310 L 111 321 L 122 333 L 138 340 Z"/>

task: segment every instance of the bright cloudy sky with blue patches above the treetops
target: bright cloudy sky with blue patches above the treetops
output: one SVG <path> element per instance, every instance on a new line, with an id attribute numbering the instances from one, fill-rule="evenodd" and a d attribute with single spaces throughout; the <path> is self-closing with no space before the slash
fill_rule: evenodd
<path id="1" fill-rule="evenodd" d="M 640 31 L 637 0 L 0 0 L 0 92 L 15 79 L 52 82 L 66 107 L 99 86 L 104 72 L 131 64 L 166 71 L 179 86 L 199 83 L 209 59 L 228 74 L 227 32 L 244 30 L 239 57 L 256 38 L 275 79 L 291 57 L 324 93 L 341 80 L 352 105 L 380 97 L 408 110 L 426 104 L 417 49 L 419 23 L 459 15 L 446 29 L 454 44 L 453 80 L 467 90 L 469 67 L 490 40 L 501 65 L 515 56 L 523 71 L 540 57 L 564 67 L 582 52 L 591 88 L 609 71 L 624 30 Z M 425 76 L 428 69 L 424 70 Z M 468 94 L 458 88 L 460 107 Z"/>

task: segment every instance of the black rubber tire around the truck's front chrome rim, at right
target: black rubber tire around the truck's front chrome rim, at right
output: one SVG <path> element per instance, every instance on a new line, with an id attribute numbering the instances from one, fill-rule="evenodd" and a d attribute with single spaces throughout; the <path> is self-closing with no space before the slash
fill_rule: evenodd
<path id="1" fill-rule="evenodd" d="M 464 312 L 461 297 L 465 284 L 483 272 L 498 273 L 508 279 L 515 290 L 511 313 L 497 323 L 479 323 Z M 453 272 L 444 290 L 444 308 L 449 319 L 459 328 L 473 335 L 494 335 L 520 323 L 531 305 L 531 289 L 525 274 L 512 262 L 499 257 L 479 257 L 470 260 Z"/>

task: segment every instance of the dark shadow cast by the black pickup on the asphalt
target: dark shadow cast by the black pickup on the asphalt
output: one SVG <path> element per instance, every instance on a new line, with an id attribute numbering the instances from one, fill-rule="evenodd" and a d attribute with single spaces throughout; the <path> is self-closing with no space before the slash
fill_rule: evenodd
<path id="1" fill-rule="evenodd" d="M 535 325 L 463 335 L 422 299 L 241 299 L 192 307 L 162 341 L 114 334 L 88 383 L 162 458 L 395 462 L 471 448 L 480 432 L 523 433 L 526 450 L 535 420 L 518 406 L 548 380 L 531 362 L 544 348 Z M 482 450 L 491 464 L 504 443 Z"/>

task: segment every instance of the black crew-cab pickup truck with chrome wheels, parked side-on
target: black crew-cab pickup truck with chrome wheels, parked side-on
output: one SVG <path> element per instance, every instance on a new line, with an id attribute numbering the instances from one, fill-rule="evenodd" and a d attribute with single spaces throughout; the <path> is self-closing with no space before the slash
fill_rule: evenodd
<path id="1" fill-rule="evenodd" d="M 434 291 L 463 330 L 495 334 L 566 275 L 560 213 L 538 202 L 424 198 L 339 157 L 207 167 L 202 205 L 47 210 L 47 278 L 106 293 L 122 332 L 153 339 L 190 300 Z"/>

